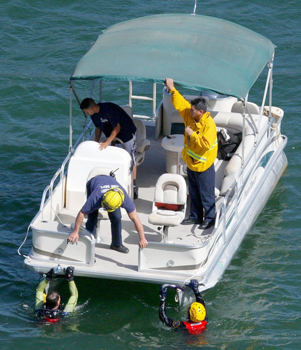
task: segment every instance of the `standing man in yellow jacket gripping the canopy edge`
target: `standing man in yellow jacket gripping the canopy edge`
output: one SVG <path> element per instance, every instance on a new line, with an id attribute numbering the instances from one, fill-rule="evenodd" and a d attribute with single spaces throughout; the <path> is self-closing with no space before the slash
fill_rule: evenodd
<path id="1" fill-rule="evenodd" d="M 205 230 L 215 223 L 213 162 L 218 146 L 216 124 L 210 112 L 207 112 L 203 97 L 197 97 L 189 103 L 175 89 L 173 79 L 166 78 L 165 86 L 185 124 L 182 157 L 187 163 L 190 216 L 181 224 L 200 224 L 199 229 Z"/>

